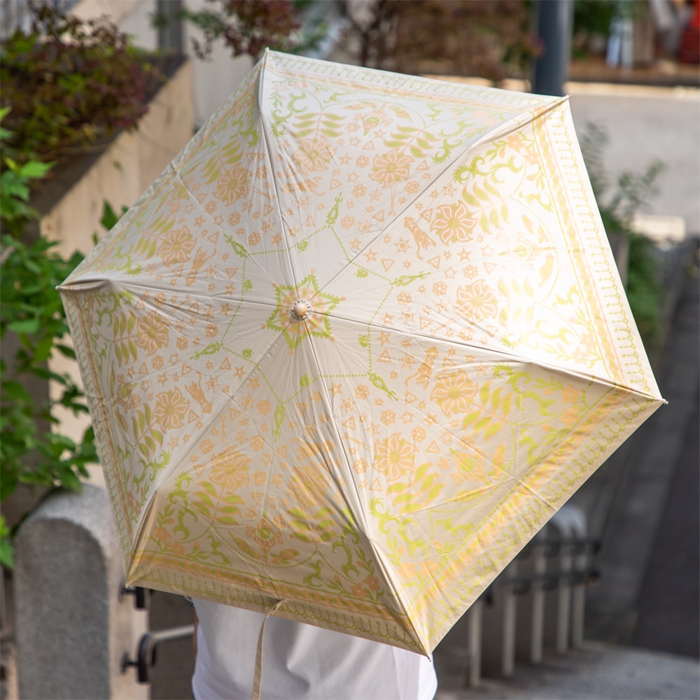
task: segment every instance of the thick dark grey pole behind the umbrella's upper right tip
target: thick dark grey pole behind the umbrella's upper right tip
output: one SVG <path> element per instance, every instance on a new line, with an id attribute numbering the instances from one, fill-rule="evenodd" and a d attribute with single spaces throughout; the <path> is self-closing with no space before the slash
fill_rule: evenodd
<path id="1" fill-rule="evenodd" d="M 538 0 L 535 11 L 542 55 L 535 59 L 532 92 L 562 95 L 571 52 L 573 0 Z"/>

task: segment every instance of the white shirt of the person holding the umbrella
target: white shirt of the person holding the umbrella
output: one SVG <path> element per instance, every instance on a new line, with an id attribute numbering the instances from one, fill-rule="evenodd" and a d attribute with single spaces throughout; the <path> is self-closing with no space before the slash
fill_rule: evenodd
<path id="1" fill-rule="evenodd" d="M 196 700 L 249 699 L 265 616 L 195 600 Z M 433 662 L 420 654 L 272 615 L 265 626 L 261 696 L 267 700 L 430 700 Z"/>

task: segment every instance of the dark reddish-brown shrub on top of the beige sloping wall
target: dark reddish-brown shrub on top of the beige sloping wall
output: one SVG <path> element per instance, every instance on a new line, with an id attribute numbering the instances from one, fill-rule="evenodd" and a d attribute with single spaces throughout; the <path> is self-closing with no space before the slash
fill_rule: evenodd
<path id="1" fill-rule="evenodd" d="M 31 31 L 16 29 L 0 49 L 0 102 L 12 106 L 6 153 L 19 162 L 52 160 L 134 127 L 153 70 L 111 22 L 34 10 Z"/>

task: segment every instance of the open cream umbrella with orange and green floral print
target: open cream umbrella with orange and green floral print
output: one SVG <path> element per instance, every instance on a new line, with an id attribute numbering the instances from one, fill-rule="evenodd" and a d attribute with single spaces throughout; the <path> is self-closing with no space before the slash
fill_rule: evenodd
<path id="1" fill-rule="evenodd" d="M 127 580 L 423 654 L 662 402 L 558 97 L 268 51 L 61 291 Z"/>

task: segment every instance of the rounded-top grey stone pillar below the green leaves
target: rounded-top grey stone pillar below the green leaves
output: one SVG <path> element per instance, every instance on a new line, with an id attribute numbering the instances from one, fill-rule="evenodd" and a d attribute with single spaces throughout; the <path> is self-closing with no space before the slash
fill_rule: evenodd
<path id="1" fill-rule="evenodd" d="M 120 600 L 123 563 L 106 491 L 57 493 L 20 528 L 15 629 L 22 699 L 140 700 L 125 652 L 146 630 L 132 596 Z"/>

